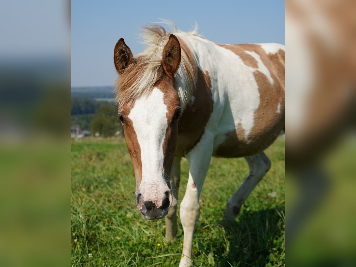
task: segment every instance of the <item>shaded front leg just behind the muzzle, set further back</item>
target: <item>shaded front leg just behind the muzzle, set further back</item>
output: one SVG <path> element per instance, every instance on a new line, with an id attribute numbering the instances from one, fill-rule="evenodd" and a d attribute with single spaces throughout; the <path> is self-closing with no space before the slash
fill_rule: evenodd
<path id="1" fill-rule="evenodd" d="M 177 235 L 177 204 L 178 204 L 178 189 L 180 180 L 180 159 L 181 157 L 174 157 L 171 168 L 171 188 L 173 201 L 171 208 L 169 208 L 166 215 L 166 240 L 173 241 Z"/>

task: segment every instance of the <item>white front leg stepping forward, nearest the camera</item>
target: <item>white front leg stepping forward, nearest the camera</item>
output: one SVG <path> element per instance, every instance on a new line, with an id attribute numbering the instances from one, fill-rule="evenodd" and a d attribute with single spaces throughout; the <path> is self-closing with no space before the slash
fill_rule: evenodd
<path id="1" fill-rule="evenodd" d="M 184 241 L 183 255 L 179 267 L 193 265 L 192 244 L 195 226 L 199 220 L 199 197 L 213 153 L 213 138 L 209 138 L 208 133 L 205 133 L 203 137 L 187 157 L 189 161 L 189 179 L 187 190 L 180 204 L 180 220 L 184 231 Z"/>

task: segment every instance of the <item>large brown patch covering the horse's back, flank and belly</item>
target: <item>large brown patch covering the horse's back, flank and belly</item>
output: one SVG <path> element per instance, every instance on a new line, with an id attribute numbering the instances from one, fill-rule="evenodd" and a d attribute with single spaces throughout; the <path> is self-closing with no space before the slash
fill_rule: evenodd
<path id="1" fill-rule="evenodd" d="M 224 142 L 214 151 L 214 156 L 218 157 L 255 155 L 270 146 L 284 127 L 284 51 L 280 49 L 276 54 L 266 54 L 260 45 L 236 46 L 256 52 L 261 57 L 271 74 L 273 84 L 259 70 L 253 72 L 260 93 L 254 125 L 247 138 L 241 124 L 236 126 L 235 131 L 226 133 Z M 276 112 L 278 105 L 280 113 Z"/>

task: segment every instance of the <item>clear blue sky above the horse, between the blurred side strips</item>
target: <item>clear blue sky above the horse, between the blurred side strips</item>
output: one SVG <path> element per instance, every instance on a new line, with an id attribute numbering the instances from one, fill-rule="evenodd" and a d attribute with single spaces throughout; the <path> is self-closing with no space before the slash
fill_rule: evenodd
<path id="1" fill-rule="evenodd" d="M 112 55 L 124 38 L 135 55 L 140 27 L 159 18 L 218 43 L 284 44 L 284 1 L 79 1 L 72 0 L 72 86 L 112 85 Z"/>

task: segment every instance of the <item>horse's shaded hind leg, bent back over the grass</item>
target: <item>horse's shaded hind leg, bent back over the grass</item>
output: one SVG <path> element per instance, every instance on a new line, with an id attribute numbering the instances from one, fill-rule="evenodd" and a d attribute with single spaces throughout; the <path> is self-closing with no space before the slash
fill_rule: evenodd
<path id="1" fill-rule="evenodd" d="M 240 212 L 242 203 L 244 203 L 258 182 L 262 180 L 269 168 L 271 168 L 271 161 L 269 161 L 265 152 L 245 157 L 245 159 L 250 168 L 250 173 L 244 183 L 240 185 L 239 189 L 237 189 L 234 195 L 227 201 L 225 218 L 229 220 L 235 220 L 236 215 Z"/>

